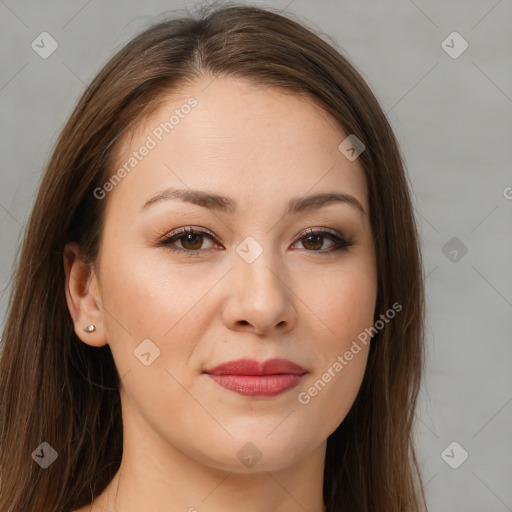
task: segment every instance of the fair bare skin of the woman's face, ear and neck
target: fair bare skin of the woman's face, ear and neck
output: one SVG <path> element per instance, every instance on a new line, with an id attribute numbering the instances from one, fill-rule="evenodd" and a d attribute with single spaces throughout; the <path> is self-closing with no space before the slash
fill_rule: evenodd
<path id="1" fill-rule="evenodd" d="M 100 256 L 84 265 L 78 246 L 64 253 L 66 296 L 79 338 L 109 344 L 122 378 L 124 453 L 120 470 L 86 511 L 322 512 L 327 437 L 352 406 L 368 345 L 305 405 L 308 390 L 373 324 L 377 273 L 367 184 L 361 164 L 338 145 L 347 136 L 311 100 L 233 78 L 202 77 L 126 137 L 132 151 L 188 98 L 198 104 L 108 196 Z M 236 200 L 236 214 L 180 200 L 141 207 L 169 187 Z M 291 198 L 319 192 L 354 196 L 283 216 Z M 186 234 L 173 253 L 158 241 Z M 331 228 L 353 246 L 308 239 Z M 248 263 L 236 248 L 253 237 L 263 252 Z M 242 244 L 243 247 L 243 244 Z M 330 252 L 331 251 L 331 252 Z M 84 327 L 94 324 L 93 333 Z M 134 350 L 150 339 L 149 366 Z M 280 357 L 307 370 L 298 387 L 247 397 L 203 373 L 239 358 Z M 238 451 L 252 443 L 261 459 L 247 467 Z M 252 449 L 254 450 L 254 449 Z"/>

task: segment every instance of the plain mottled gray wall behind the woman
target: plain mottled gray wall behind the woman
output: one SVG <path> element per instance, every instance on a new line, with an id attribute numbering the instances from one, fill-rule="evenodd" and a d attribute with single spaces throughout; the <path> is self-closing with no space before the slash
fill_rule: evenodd
<path id="1" fill-rule="evenodd" d="M 511 1 L 253 4 L 334 38 L 405 154 L 427 276 L 417 439 L 430 510 L 512 511 Z M 1 325 L 42 169 L 85 84 L 154 17 L 195 5 L 0 0 Z M 59 45 L 47 59 L 31 48 L 43 31 Z M 453 31 L 469 44 L 458 58 L 442 46 Z M 460 463 L 462 450 L 469 456 L 453 469 L 445 460 Z"/>

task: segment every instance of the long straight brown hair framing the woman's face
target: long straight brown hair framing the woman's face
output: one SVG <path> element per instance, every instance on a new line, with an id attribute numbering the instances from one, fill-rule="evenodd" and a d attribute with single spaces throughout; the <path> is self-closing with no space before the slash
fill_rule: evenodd
<path id="1" fill-rule="evenodd" d="M 69 512 L 98 496 L 123 449 L 119 375 L 108 345 L 74 332 L 63 248 L 94 264 L 124 133 L 165 94 L 208 74 L 302 94 L 365 144 L 378 270 L 375 319 L 400 314 L 370 345 L 357 398 L 328 438 L 328 512 L 426 510 L 413 424 L 424 357 L 424 290 L 418 233 L 398 143 L 354 66 L 311 29 L 270 9 L 227 5 L 158 22 L 124 46 L 79 100 L 42 178 L 13 276 L 0 361 L 0 510 Z M 341 142 L 341 141 L 340 141 Z M 47 469 L 32 453 L 47 442 Z"/>

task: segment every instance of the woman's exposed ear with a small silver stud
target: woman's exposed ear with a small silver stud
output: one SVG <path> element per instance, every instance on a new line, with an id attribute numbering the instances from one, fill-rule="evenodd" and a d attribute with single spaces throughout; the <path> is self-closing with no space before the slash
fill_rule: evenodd
<path id="1" fill-rule="evenodd" d="M 75 325 L 76 335 L 88 345 L 101 347 L 108 340 L 103 322 L 96 274 L 92 267 L 80 260 L 80 246 L 71 242 L 64 247 L 64 272 L 66 275 L 66 301 Z M 85 331 L 94 325 L 93 332 Z"/>

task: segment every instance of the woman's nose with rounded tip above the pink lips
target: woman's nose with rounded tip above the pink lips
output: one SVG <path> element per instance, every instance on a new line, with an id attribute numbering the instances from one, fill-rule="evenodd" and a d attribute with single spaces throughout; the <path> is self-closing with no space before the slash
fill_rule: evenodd
<path id="1" fill-rule="evenodd" d="M 252 263 L 236 256 L 228 281 L 222 317 L 229 329 L 272 336 L 295 327 L 293 284 L 270 251 L 263 251 Z"/>

